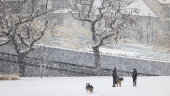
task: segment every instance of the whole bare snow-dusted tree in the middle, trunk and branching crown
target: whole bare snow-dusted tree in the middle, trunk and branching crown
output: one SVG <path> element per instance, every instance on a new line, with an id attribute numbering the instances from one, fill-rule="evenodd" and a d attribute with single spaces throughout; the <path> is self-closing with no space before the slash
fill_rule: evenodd
<path id="1" fill-rule="evenodd" d="M 125 28 L 125 24 L 134 22 L 130 18 L 131 13 L 137 13 L 136 8 L 127 8 L 134 0 L 72 0 L 69 12 L 73 18 L 90 23 L 92 33 L 95 66 L 97 75 L 100 75 L 101 60 L 99 48 L 103 46 L 104 41 L 110 37 L 118 38 L 119 32 Z M 109 30 L 101 28 L 96 30 L 97 22 L 107 20 Z M 105 21 L 106 22 L 106 21 Z"/>

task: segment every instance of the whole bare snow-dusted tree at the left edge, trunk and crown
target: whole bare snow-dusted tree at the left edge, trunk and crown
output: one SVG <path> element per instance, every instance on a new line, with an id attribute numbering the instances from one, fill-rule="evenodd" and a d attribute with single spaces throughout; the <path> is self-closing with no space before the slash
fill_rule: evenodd
<path id="1" fill-rule="evenodd" d="M 21 77 L 25 76 L 25 57 L 34 50 L 34 44 L 43 36 L 47 28 L 45 21 L 40 29 L 35 19 L 47 14 L 48 0 L 0 0 L 0 38 L 3 38 L 0 46 L 12 45 L 18 56 L 19 73 Z M 40 10 L 44 5 L 45 10 Z"/>

